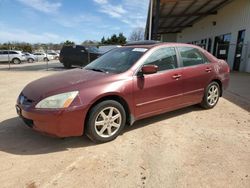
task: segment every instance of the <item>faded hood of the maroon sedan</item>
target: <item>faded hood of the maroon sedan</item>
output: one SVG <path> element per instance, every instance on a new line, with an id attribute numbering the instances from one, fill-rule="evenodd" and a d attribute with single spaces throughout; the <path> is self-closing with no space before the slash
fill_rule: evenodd
<path id="1" fill-rule="evenodd" d="M 94 85 L 93 82 L 103 82 L 111 76 L 112 74 L 102 72 L 74 69 L 35 80 L 29 83 L 22 93 L 27 98 L 37 101 L 58 93 L 80 90 L 82 87 Z"/>

